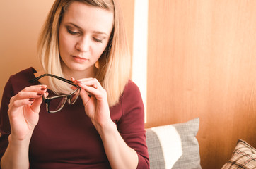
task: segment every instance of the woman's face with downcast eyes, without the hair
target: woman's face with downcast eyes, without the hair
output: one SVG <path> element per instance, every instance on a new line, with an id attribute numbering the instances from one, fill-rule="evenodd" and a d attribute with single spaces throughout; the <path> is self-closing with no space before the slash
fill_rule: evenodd
<path id="1" fill-rule="evenodd" d="M 59 25 L 59 54 L 64 74 L 93 75 L 95 62 L 105 50 L 113 13 L 74 1 Z"/>

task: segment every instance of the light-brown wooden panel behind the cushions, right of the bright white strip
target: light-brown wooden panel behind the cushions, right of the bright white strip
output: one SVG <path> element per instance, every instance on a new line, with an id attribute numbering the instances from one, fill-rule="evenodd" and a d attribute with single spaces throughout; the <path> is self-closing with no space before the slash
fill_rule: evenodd
<path id="1" fill-rule="evenodd" d="M 202 168 L 256 147 L 256 1 L 149 0 L 146 127 L 200 118 Z"/>

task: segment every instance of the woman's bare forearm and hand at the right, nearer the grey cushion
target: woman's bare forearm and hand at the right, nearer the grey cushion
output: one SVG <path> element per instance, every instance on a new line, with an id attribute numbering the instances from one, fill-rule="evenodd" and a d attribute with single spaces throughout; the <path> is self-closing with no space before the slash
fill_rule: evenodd
<path id="1" fill-rule="evenodd" d="M 112 168 L 137 168 L 138 154 L 122 139 L 117 126 L 110 118 L 107 93 L 96 79 L 75 81 L 81 87 L 81 98 L 86 114 L 103 141 L 105 153 Z M 88 96 L 88 93 L 91 96 Z"/>

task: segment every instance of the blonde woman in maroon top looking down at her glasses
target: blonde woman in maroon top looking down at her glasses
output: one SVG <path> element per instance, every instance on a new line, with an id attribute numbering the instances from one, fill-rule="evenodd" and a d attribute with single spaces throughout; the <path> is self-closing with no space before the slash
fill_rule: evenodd
<path id="1" fill-rule="evenodd" d="M 149 168 L 117 1 L 56 0 L 38 51 L 4 89 L 1 168 Z"/>

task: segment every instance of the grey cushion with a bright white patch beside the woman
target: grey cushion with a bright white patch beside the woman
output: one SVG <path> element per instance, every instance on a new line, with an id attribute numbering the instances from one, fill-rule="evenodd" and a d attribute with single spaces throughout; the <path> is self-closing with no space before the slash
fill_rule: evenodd
<path id="1" fill-rule="evenodd" d="M 151 169 L 201 168 L 198 130 L 199 118 L 146 129 Z"/>

